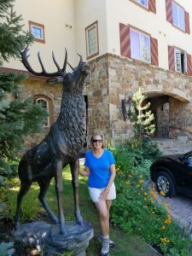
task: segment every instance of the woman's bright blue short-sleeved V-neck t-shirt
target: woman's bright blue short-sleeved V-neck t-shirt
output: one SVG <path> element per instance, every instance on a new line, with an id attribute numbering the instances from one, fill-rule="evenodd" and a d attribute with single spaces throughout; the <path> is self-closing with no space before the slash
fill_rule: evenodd
<path id="1" fill-rule="evenodd" d="M 111 177 L 109 167 L 115 164 L 111 151 L 104 149 L 101 157 L 96 158 L 92 151 L 85 154 L 84 166 L 90 168 L 90 176 L 88 187 L 102 189 L 108 185 L 108 180 Z"/>

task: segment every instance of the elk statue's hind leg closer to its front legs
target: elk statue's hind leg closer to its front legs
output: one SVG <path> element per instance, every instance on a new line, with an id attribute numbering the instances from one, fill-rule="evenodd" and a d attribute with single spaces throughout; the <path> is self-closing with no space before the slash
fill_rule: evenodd
<path id="1" fill-rule="evenodd" d="M 50 210 L 49 205 L 46 200 L 46 193 L 49 189 L 50 179 L 45 182 L 38 182 L 38 185 L 40 187 L 40 193 L 38 194 L 38 200 L 42 203 L 45 211 L 48 213 L 49 218 L 53 221 L 54 224 L 58 224 L 58 218 L 56 218 L 55 214 Z"/>

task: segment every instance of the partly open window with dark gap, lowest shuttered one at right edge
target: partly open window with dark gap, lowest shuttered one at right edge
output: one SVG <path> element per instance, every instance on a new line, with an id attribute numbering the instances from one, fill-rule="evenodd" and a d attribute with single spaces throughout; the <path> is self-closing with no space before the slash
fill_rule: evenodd
<path id="1" fill-rule="evenodd" d="M 187 73 L 187 58 L 183 50 L 174 49 L 175 55 L 175 70 L 181 73 Z"/>

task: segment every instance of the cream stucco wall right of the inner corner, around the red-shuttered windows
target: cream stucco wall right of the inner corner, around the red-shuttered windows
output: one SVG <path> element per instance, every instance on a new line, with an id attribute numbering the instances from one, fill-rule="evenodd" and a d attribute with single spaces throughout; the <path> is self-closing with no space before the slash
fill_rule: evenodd
<path id="1" fill-rule="evenodd" d="M 99 54 L 120 55 L 119 22 L 135 26 L 158 40 L 159 67 L 168 67 L 168 45 L 192 55 L 192 34 L 181 32 L 166 20 L 166 1 L 156 0 L 156 14 L 131 0 L 75 0 L 76 49 L 86 56 L 84 28 L 98 20 Z M 192 30 L 192 2 L 177 0 L 189 12 Z M 139 19 L 138 19 L 139 17 Z"/>

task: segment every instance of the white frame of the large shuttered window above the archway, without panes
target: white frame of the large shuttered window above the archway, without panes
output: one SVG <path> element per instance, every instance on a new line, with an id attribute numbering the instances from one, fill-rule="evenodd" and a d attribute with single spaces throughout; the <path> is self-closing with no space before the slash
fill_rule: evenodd
<path id="1" fill-rule="evenodd" d="M 139 57 L 136 57 L 133 55 L 133 48 L 131 47 L 131 58 L 133 59 L 137 59 L 139 61 L 144 61 L 144 62 L 147 62 L 147 63 L 151 63 L 151 44 L 150 44 L 150 37 L 146 34 L 144 34 L 143 32 L 138 32 L 137 30 L 131 28 L 130 29 L 130 36 L 131 36 L 131 31 L 133 32 L 137 32 L 137 34 L 139 35 Z M 143 56 L 142 56 L 142 53 L 143 53 L 143 48 L 142 48 L 142 37 L 146 37 L 148 38 L 148 60 L 147 59 L 144 59 Z"/>

